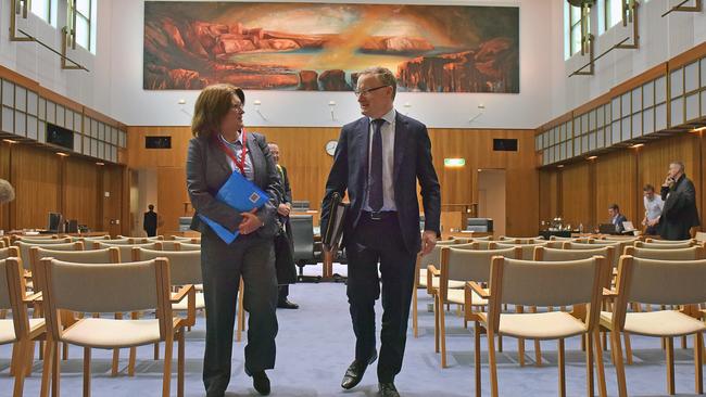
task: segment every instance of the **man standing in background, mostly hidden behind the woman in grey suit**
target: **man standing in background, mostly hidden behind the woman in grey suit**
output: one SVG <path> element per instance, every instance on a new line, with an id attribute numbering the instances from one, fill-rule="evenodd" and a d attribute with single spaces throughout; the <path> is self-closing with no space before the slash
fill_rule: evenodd
<path id="1" fill-rule="evenodd" d="M 277 165 L 277 171 L 279 172 L 283 193 L 281 203 L 279 203 L 279 207 L 277 207 L 277 215 L 279 217 L 279 222 L 282 225 L 281 232 L 285 233 L 285 236 L 283 239 L 282 236 L 278 236 L 279 240 L 275 241 L 275 257 L 278 276 L 277 282 L 279 283 L 277 307 L 280 309 L 299 309 L 299 305 L 289 300 L 289 284 L 297 280 L 297 269 L 294 268 L 294 260 L 292 258 L 292 252 L 294 249 L 292 246 L 292 229 L 289 222 L 289 213 L 292 210 L 292 189 L 289 187 L 287 168 L 279 164 L 279 145 L 269 142 L 267 143 L 267 146 L 269 146 L 269 154 L 272 154 L 273 159 Z"/>

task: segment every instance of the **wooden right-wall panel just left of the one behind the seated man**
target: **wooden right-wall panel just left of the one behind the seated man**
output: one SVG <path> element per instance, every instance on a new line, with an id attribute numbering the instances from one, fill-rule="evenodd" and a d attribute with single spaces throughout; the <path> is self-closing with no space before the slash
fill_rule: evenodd
<path id="1" fill-rule="evenodd" d="M 560 171 L 562 192 L 560 205 L 564 225 L 576 227 L 591 223 L 590 195 L 590 164 L 587 162 L 567 165 Z"/>

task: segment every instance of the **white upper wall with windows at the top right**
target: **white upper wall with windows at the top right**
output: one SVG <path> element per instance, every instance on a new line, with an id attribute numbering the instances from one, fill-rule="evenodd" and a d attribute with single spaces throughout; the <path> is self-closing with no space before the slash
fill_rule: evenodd
<path id="1" fill-rule="evenodd" d="M 672 12 L 661 17 L 661 14 L 676 5 L 680 0 L 648 0 L 641 1 L 639 7 L 640 48 L 638 50 L 616 49 L 596 61 L 594 76 L 567 77 L 573 71 L 589 62 L 588 54 L 576 54 L 564 61 L 564 3 L 565 0 L 552 1 L 553 28 L 551 46 L 552 54 L 552 111 L 551 118 L 558 117 L 585 102 L 606 93 L 610 88 L 636 76 L 669 59 L 704 42 L 706 40 L 706 11 Z M 600 4 L 603 1 L 598 2 Z M 689 1 L 685 5 L 693 5 Z M 598 12 L 601 7 L 591 10 L 591 30 L 598 31 Z M 562 31 L 560 35 L 557 33 Z M 632 37 L 632 25 L 621 24 L 608 29 L 597 37 L 595 54 L 626 37 Z M 630 40 L 631 41 L 631 40 Z M 587 68 L 588 69 L 588 68 Z M 547 119 L 549 121 L 549 119 Z"/>

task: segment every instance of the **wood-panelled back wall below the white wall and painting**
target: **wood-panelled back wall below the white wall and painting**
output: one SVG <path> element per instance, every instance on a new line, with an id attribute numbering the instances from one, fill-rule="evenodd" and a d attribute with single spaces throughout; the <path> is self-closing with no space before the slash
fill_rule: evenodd
<path id="1" fill-rule="evenodd" d="M 337 140 L 338 128 L 285 128 L 252 127 L 267 137 L 267 141 L 277 142 L 281 152 L 281 164 L 289 171 L 294 200 L 306 200 L 311 207 L 317 209 L 324 195 L 326 178 L 332 164 L 332 157 L 324 148 L 327 141 Z M 539 225 L 539 184 L 535 169 L 533 130 L 468 130 L 468 129 L 431 129 L 432 155 L 439 180 L 442 185 L 442 203 L 470 204 L 477 202 L 476 174 L 479 168 L 506 169 L 507 183 L 507 233 L 514 235 L 537 234 Z M 171 150 L 146 150 L 146 136 L 172 136 Z M 128 165 L 130 168 L 169 168 L 184 167 L 188 141 L 191 138 L 189 127 L 129 127 L 128 128 Z M 493 152 L 493 138 L 518 139 L 518 152 Z M 466 166 L 444 168 L 444 157 L 463 157 Z M 184 175 L 165 171 L 164 177 L 172 176 L 178 180 L 159 181 L 159 185 L 169 189 L 184 189 L 177 196 L 186 196 Z M 177 200 L 178 201 L 178 200 Z M 167 207 L 172 203 L 166 204 Z M 181 205 L 181 204 L 179 204 Z M 164 214 L 165 204 L 157 207 Z M 176 209 L 167 209 L 171 214 Z M 178 214 L 182 214 L 179 208 Z M 166 215 L 166 214 L 165 214 Z M 167 220 L 165 219 L 165 222 Z M 166 230 L 166 228 L 165 228 Z"/>

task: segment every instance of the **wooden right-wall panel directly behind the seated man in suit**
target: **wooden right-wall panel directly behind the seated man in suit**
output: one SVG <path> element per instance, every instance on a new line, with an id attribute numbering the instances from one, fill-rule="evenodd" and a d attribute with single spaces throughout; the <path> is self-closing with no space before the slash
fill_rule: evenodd
<path id="1" fill-rule="evenodd" d="M 595 225 L 608 223 L 608 206 L 617 204 L 635 227 L 642 218 L 636 207 L 638 191 L 634 150 L 625 150 L 601 156 L 595 162 Z M 585 223 L 584 223 L 585 225 Z"/>

